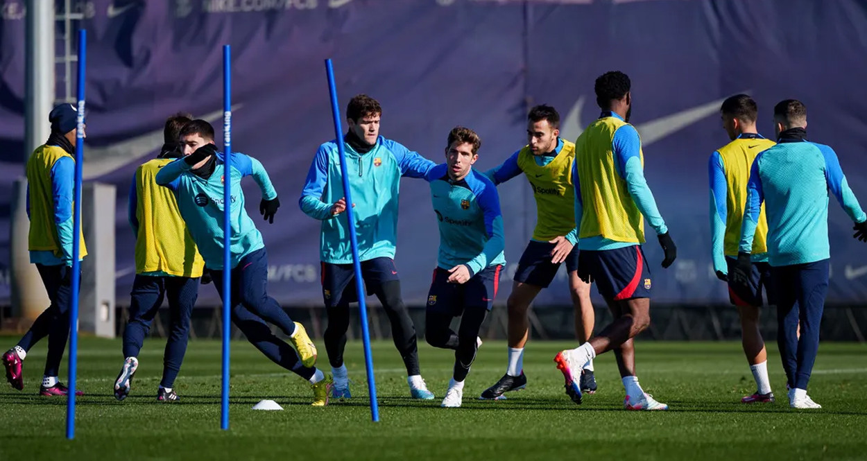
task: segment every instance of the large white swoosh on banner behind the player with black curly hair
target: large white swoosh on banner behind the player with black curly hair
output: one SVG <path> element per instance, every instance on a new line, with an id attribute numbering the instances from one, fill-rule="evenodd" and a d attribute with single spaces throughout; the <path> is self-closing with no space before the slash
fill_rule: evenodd
<path id="1" fill-rule="evenodd" d="M 748 94 L 746 91 L 742 93 Z M 566 140 L 577 140 L 578 136 L 580 136 L 584 131 L 584 126 L 581 123 L 581 112 L 584 106 L 584 99 L 584 96 L 581 96 L 578 98 L 578 101 L 575 101 L 575 105 L 572 106 L 569 114 L 566 115 L 566 119 L 561 125 L 560 133 L 563 133 L 563 137 Z M 644 122 L 641 125 L 636 125 L 636 130 L 638 130 L 638 133 L 642 137 L 642 146 L 649 146 L 658 140 L 667 138 L 671 134 L 694 124 L 708 115 L 719 112 L 722 101 L 726 101 L 726 98 L 720 98 L 716 101 L 701 104 L 701 106 L 691 107 L 676 112 L 675 114 L 666 115 L 655 120 Z"/>

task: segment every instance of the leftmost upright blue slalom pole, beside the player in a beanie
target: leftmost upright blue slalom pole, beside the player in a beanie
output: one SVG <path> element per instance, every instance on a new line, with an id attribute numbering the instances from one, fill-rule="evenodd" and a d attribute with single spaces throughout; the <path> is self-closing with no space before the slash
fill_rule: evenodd
<path id="1" fill-rule="evenodd" d="M 78 371 L 78 297 L 81 286 L 81 164 L 84 163 L 84 68 L 88 62 L 88 32 L 78 29 L 78 105 L 75 114 L 75 192 L 72 204 L 72 305 L 69 306 L 69 395 L 66 438 L 75 438 L 75 378 Z"/>

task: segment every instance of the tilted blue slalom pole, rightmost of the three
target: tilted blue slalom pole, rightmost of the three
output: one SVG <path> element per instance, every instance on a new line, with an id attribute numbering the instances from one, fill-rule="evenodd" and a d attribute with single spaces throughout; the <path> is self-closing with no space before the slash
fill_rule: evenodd
<path id="1" fill-rule="evenodd" d="M 340 124 L 340 107 L 337 106 L 337 86 L 334 83 L 334 67 L 331 60 L 325 60 L 328 74 L 328 87 L 331 93 L 331 114 L 334 115 L 334 131 L 337 135 L 337 153 L 340 155 L 340 173 L 343 177 L 343 195 L 346 197 L 346 218 L 349 221 L 349 243 L 352 245 L 352 263 L 355 269 L 355 290 L 358 293 L 358 311 L 362 317 L 362 340 L 364 341 L 364 364 L 368 369 L 368 393 L 370 394 L 370 417 L 379 421 L 379 402 L 376 401 L 374 380 L 374 359 L 370 353 L 370 331 L 368 330 L 368 306 L 364 299 L 362 263 L 358 260 L 358 237 L 355 236 L 355 212 L 352 210 L 352 197 L 349 191 L 349 173 L 346 171 L 346 152 L 343 149 L 343 129 Z"/>

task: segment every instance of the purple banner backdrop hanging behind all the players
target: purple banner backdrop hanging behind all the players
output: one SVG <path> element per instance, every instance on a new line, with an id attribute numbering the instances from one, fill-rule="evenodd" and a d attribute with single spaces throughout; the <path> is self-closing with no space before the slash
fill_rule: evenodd
<path id="1" fill-rule="evenodd" d="M 381 133 L 442 160 L 448 130 L 483 139 L 479 168 L 525 143 L 529 106 L 549 103 L 574 140 L 597 114 L 593 81 L 611 69 L 633 81 L 634 122 L 662 216 L 679 246 L 659 267 L 646 245 L 656 299 L 725 302 L 709 257 L 707 158 L 727 142 L 720 102 L 738 92 L 771 108 L 805 101 L 812 140 L 835 147 L 849 184 L 867 205 L 867 6 L 855 0 L 176 0 L 73 2 L 88 29 L 85 175 L 117 185 L 117 293 L 127 303 L 134 238 L 127 190 L 135 166 L 160 146 L 177 111 L 220 130 L 220 45 L 233 48 L 233 146 L 271 173 L 284 207 L 257 219 L 271 264 L 271 294 L 319 304 L 319 223 L 297 207 L 316 147 L 334 138 L 323 59 L 335 62 L 345 106 L 366 93 L 384 107 Z M 23 175 L 23 0 L 0 0 L 0 298 L 9 296 L 10 191 Z M 59 32 L 61 29 L 58 29 Z M 60 37 L 60 34 L 58 34 Z M 62 70 L 62 68 L 59 68 Z M 60 80 L 62 74 L 58 74 Z M 58 88 L 61 84 L 58 83 Z M 509 261 L 500 300 L 531 236 L 535 205 L 524 179 L 501 185 Z M 257 188 L 244 189 L 258 218 Z M 407 302 L 426 300 L 439 243 L 427 184 L 404 179 L 397 266 Z M 867 299 L 867 247 L 831 200 L 829 299 Z M 595 294 L 594 294 L 595 295 Z M 216 303 L 205 287 L 202 302 Z M 539 304 L 569 302 L 559 274 Z"/>

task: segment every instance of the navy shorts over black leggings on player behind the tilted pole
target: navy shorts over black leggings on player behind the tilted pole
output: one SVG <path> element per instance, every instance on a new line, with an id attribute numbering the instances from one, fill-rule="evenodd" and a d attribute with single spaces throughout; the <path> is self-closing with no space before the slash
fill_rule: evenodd
<path id="1" fill-rule="evenodd" d="M 390 257 L 375 257 L 362 261 L 365 293 L 383 282 L 401 280 Z M 322 263 L 323 298 L 325 307 L 333 308 L 342 302 L 358 302 L 355 290 L 355 269 L 352 264 Z"/>

